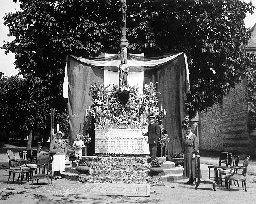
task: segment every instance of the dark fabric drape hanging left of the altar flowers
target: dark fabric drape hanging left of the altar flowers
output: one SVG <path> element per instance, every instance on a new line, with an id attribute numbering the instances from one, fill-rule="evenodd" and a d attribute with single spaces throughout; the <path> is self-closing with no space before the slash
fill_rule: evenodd
<path id="1" fill-rule="evenodd" d="M 86 66 L 73 58 L 68 60 L 68 119 L 69 142 L 73 144 L 76 134 L 83 133 L 88 127 L 85 110 L 89 108 L 91 99 L 88 95 L 90 85 L 104 83 L 104 70 Z"/>

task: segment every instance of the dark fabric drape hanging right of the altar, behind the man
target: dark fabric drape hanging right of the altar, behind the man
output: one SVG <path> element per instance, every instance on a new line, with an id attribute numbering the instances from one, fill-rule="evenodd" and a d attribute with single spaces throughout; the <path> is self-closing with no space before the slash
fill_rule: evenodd
<path id="1" fill-rule="evenodd" d="M 181 152 L 184 138 L 182 121 L 184 119 L 184 100 L 189 93 L 184 58 L 161 66 L 160 68 L 144 72 L 144 84 L 157 83 L 158 107 L 167 109 L 166 119 L 163 119 L 163 127 L 167 130 L 170 142 L 167 143 L 168 155 Z"/>

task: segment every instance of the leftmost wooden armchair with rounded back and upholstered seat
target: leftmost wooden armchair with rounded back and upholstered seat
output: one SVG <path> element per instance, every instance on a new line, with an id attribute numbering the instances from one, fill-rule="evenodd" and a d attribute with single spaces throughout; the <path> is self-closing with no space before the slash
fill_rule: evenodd
<path id="1" fill-rule="evenodd" d="M 19 177 L 17 181 L 19 181 L 20 174 L 21 174 L 20 185 L 22 185 L 24 174 L 27 174 L 27 180 L 29 181 L 28 178 L 30 174 L 30 168 L 26 166 L 26 160 L 16 159 L 13 151 L 11 151 L 10 149 L 7 149 L 7 155 L 9 159 L 9 176 L 8 176 L 7 183 L 9 184 L 11 173 L 13 173 L 13 182 L 14 182 L 15 173 L 19 173 Z M 24 164 L 25 166 L 22 166 L 22 164 Z"/>

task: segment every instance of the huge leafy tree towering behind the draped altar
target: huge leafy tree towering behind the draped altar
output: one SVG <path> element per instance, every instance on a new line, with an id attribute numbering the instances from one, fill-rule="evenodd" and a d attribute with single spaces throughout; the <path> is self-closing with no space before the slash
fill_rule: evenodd
<path id="1" fill-rule="evenodd" d="M 49 102 L 61 95 L 65 56 L 118 53 L 121 13 L 117 0 L 14 0 L 21 11 L 7 13 L 5 25 L 16 68 Z M 128 52 L 188 56 L 191 95 L 189 115 L 222 102 L 240 77 L 249 74 L 255 54 L 245 53 L 251 29 L 245 28 L 252 3 L 240 0 L 128 1 Z M 254 59 L 252 61 L 251 59 Z"/>

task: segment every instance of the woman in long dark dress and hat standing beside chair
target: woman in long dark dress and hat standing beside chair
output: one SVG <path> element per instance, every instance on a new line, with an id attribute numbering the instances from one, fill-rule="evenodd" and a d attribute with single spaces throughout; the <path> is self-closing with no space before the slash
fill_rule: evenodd
<path id="1" fill-rule="evenodd" d="M 197 178 L 197 159 L 195 155 L 199 153 L 197 138 L 191 132 L 191 125 L 185 126 L 186 136 L 183 142 L 184 170 L 183 176 L 189 178 L 185 184 L 196 185 Z"/>

